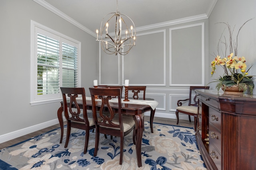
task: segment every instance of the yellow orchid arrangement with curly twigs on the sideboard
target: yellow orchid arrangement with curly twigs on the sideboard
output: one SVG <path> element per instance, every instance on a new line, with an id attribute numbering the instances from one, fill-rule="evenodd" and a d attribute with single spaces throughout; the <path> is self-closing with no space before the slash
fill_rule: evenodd
<path id="1" fill-rule="evenodd" d="M 230 55 L 224 58 L 221 58 L 220 55 L 217 55 L 217 57 L 215 57 L 215 59 L 211 62 L 211 75 L 214 74 L 216 66 L 221 66 L 224 69 L 224 75 L 220 76 L 219 79 L 215 79 L 216 81 L 214 81 L 218 82 L 218 84 L 216 85 L 216 89 L 219 91 L 220 88 L 222 88 L 222 90 L 225 91 L 226 88 L 238 87 L 239 91 L 246 92 L 246 90 L 249 88 L 250 94 L 252 94 L 254 89 L 254 82 L 252 80 L 253 76 L 248 75 L 248 70 L 250 70 L 252 66 L 248 70 L 246 70 L 247 66 L 245 57 L 237 56 L 238 34 L 241 28 L 244 26 L 244 24 L 240 27 L 238 31 L 236 41 L 232 40 L 233 31 L 231 30 L 230 25 L 228 23 L 225 24 L 228 26 L 228 31 L 230 33 Z M 226 43 L 226 41 L 219 40 L 219 43 L 223 43 L 227 49 L 228 44 Z M 219 49 L 219 43 L 217 49 Z M 232 53 L 233 49 L 234 53 Z"/>

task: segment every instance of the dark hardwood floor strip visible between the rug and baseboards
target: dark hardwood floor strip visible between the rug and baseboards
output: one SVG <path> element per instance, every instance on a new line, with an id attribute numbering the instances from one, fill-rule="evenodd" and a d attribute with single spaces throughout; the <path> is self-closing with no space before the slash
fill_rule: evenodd
<path id="1" fill-rule="evenodd" d="M 149 121 L 149 116 L 145 116 L 144 117 L 144 120 L 145 121 Z M 176 119 L 168 119 L 168 118 L 162 118 L 162 117 L 154 117 L 154 123 L 163 123 L 163 124 L 168 124 L 168 125 L 176 125 Z M 184 127 L 194 127 L 194 122 L 191 121 L 189 122 L 188 120 L 180 120 L 179 121 L 179 124 L 178 126 L 184 126 Z M 19 143 L 19 142 L 22 142 L 22 141 L 25 141 L 26 139 L 29 139 L 29 138 L 32 138 L 36 135 L 40 135 L 42 133 L 45 133 L 45 132 L 48 132 L 48 131 L 51 131 L 52 129 L 56 129 L 60 127 L 59 124 L 56 124 L 56 125 L 53 125 L 53 126 L 50 126 L 50 127 L 47 127 L 45 129 L 41 129 L 39 131 L 35 131 L 33 133 L 30 133 L 28 135 L 24 135 L 22 137 L 18 137 L 16 139 L 12 139 L 10 141 L 7 141 L 7 142 L 4 142 L 4 143 L 0 143 L 0 149 L 4 149 L 6 147 L 9 147 L 11 145 L 14 145 L 16 143 Z M 65 141 L 64 141 L 65 143 Z"/>

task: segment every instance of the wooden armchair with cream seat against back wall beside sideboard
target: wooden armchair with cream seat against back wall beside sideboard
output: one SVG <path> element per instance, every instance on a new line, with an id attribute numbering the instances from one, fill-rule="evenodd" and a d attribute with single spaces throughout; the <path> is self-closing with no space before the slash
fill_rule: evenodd
<path id="1" fill-rule="evenodd" d="M 185 100 L 178 100 L 176 107 L 176 117 L 177 117 L 177 125 L 179 123 L 179 113 L 184 113 L 188 115 L 188 119 L 191 122 L 190 115 L 194 116 L 194 129 L 196 131 L 196 124 L 197 124 L 197 114 L 198 114 L 198 100 L 196 100 L 195 96 L 192 99 L 192 91 L 196 89 L 209 89 L 210 86 L 190 86 L 189 90 L 189 98 Z M 192 101 L 193 100 L 193 101 Z M 182 105 L 184 102 L 188 102 L 188 105 Z"/>

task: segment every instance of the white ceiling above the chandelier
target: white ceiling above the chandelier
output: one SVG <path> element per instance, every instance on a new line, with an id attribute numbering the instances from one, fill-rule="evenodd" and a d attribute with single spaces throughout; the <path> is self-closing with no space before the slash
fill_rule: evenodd
<path id="1" fill-rule="evenodd" d="M 116 0 L 34 0 L 64 13 L 95 33 L 102 18 L 116 12 Z M 208 18 L 217 0 L 118 0 L 118 11 L 129 16 L 136 28 L 163 22 Z M 56 9 L 55 9 L 56 8 Z"/>

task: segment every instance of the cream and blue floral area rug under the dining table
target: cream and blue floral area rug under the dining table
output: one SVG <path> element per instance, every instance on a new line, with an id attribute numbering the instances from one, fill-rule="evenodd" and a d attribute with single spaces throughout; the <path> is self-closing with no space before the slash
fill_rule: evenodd
<path id="1" fill-rule="evenodd" d="M 72 128 L 68 147 L 60 142 L 60 128 L 0 150 L 0 170 L 206 170 L 192 128 L 154 123 L 154 133 L 145 121 L 142 137 L 142 167 L 138 168 L 132 133 L 124 139 L 101 135 L 97 156 L 93 156 L 95 133 L 90 132 L 86 154 L 85 132 Z M 65 132 L 66 134 L 66 128 Z"/>

